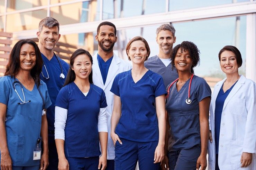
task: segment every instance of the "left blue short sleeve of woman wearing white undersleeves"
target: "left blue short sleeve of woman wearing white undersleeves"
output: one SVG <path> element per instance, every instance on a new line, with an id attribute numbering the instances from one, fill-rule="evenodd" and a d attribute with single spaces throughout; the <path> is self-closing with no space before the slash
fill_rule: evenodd
<path id="1" fill-rule="evenodd" d="M 65 87 L 61 88 L 60 92 L 58 93 L 55 106 L 68 109 L 68 91 Z"/>

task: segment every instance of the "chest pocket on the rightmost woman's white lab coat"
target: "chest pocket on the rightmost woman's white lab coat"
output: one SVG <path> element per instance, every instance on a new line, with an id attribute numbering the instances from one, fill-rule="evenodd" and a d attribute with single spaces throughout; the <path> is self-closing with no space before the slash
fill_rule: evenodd
<path id="1" fill-rule="evenodd" d="M 234 98 L 229 101 L 229 111 L 232 114 L 242 114 L 245 109 L 245 99 Z"/>

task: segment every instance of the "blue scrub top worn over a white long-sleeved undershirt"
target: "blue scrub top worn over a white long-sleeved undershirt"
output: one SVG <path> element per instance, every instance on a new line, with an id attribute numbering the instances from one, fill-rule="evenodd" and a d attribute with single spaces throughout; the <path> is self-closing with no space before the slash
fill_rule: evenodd
<path id="1" fill-rule="evenodd" d="M 67 109 L 65 126 L 66 157 L 99 156 L 98 116 L 100 108 L 107 107 L 104 91 L 90 84 L 86 96 L 71 82 L 64 86 L 57 96 L 55 106 Z"/>

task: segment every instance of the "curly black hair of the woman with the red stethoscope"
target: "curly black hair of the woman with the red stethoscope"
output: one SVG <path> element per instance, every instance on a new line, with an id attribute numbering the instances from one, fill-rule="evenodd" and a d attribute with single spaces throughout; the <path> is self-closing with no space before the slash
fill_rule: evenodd
<path id="1" fill-rule="evenodd" d="M 172 63 L 172 69 L 175 68 L 174 58 L 175 58 L 179 48 L 181 48 L 181 52 L 187 51 L 187 50 L 189 51 L 190 57 L 192 59 L 191 73 L 194 73 L 193 68 L 195 66 L 197 66 L 198 64 L 200 64 L 200 58 L 199 58 L 200 51 L 196 47 L 196 45 L 190 41 L 183 41 L 181 44 L 179 44 L 173 48 L 171 56 L 170 56 L 171 63 Z"/>

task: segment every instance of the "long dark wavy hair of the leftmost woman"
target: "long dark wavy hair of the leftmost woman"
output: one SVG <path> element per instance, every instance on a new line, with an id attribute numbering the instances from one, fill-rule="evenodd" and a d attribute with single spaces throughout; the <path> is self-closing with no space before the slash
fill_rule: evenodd
<path id="1" fill-rule="evenodd" d="M 40 85 L 40 73 L 42 71 L 43 67 L 43 59 L 41 57 L 41 53 L 39 48 L 37 47 L 37 44 L 30 39 L 26 40 L 19 40 L 12 48 L 10 55 L 9 55 L 9 61 L 6 66 L 6 71 L 4 73 L 4 76 L 11 76 L 14 77 L 18 74 L 20 70 L 20 48 L 23 44 L 30 44 L 35 48 L 36 52 L 36 63 L 35 66 L 31 69 L 30 75 L 35 80 L 35 83 L 37 86 Z"/>

